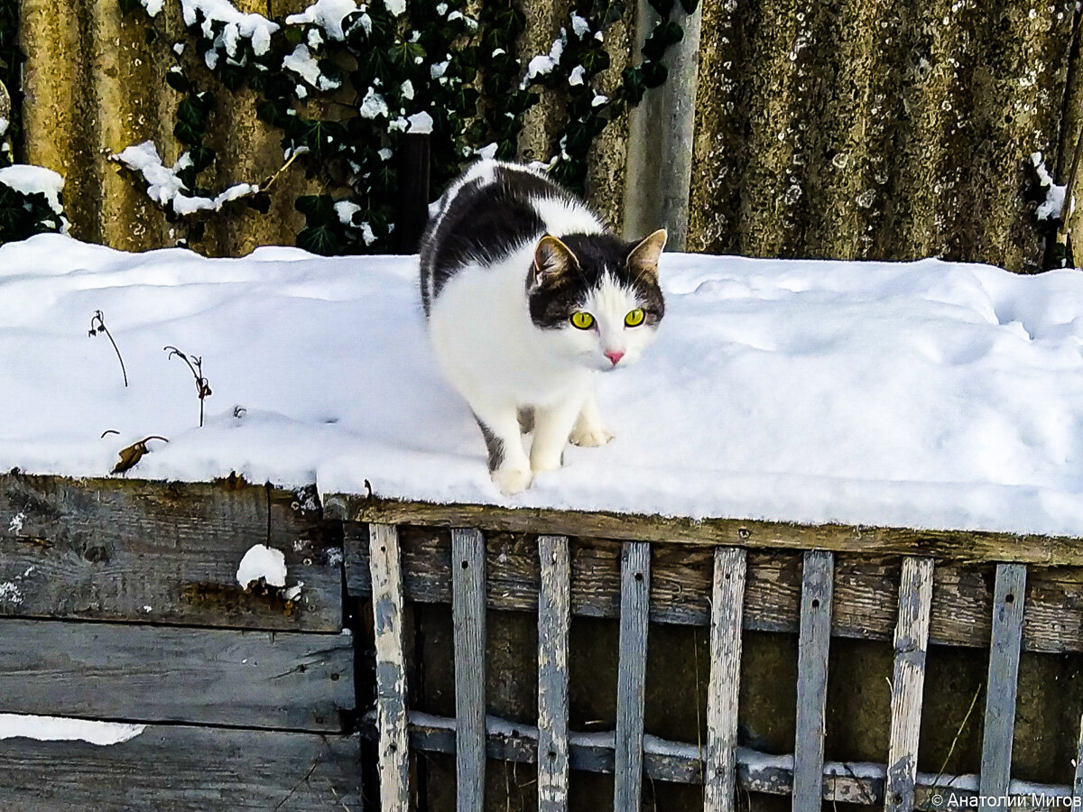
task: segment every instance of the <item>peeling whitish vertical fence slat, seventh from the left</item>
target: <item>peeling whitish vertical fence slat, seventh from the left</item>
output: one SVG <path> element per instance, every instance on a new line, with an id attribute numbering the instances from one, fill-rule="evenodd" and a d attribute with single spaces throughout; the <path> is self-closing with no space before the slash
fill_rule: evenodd
<path id="1" fill-rule="evenodd" d="M 932 559 L 908 556 L 902 560 L 899 619 L 895 627 L 895 672 L 891 678 L 891 738 L 884 793 L 886 812 L 911 812 L 914 808 L 935 565 Z"/>

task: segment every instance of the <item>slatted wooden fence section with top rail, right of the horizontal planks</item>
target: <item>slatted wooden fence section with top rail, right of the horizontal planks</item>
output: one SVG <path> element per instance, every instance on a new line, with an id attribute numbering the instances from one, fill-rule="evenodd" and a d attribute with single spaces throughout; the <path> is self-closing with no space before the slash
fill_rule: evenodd
<path id="1" fill-rule="evenodd" d="M 1041 808 L 1069 803 L 1083 791 L 1083 758 L 1074 782 L 1033 785 L 1012 780 L 1016 685 L 1020 650 L 1078 651 L 1083 644 L 1079 573 L 1045 565 L 1078 565 L 1083 548 L 1069 539 L 993 534 L 916 533 L 857 527 L 797 527 L 767 523 L 606 518 L 570 519 L 547 511 L 500 511 L 469 506 L 439 508 L 334 498 L 332 510 L 367 525 L 347 524 L 347 579 L 354 594 L 371 595 L 376 618 L 377 703 L 366 720 L 379 742 L 383 810 L 405 810 L 410 798 L 410 751 L 454 752 L 457 809 L 483 809 L 487 759 L 530 762 L 537 769 L 537 809 L 567 809 L 570 771 L 614 773 L 613 809 L 638 810 L 642 780 L 703 785 L 703 808 L 734 809 L 738 789 L 791 795 L 793 809 L 813 812 L 821 801 L 883 804 L 889 812 L 980 804 Z M 566 535 L 539 535 L 536 556 L 509 561 L 486 550 L 477 527 L 592 535 L 606 526 L 621 542 L 619 577 L 586 556 L 573 561 Z M 617 527 L 616 522 L 621 522 Z M 399 526 L 451 525 L 451 549 L 431 540 L 406 550 Z M 682 526 L 683 531 L 675 527 Z M 615 532 L 612 532 L 615 531 Z M 670 541 L 661 538 L 669 536 Z M 722 540 L 722 536 L 729 536 Z M 652 538 L 654 543 L 639 540 Z M 652 585 L 652 546 L 709 545 L 709 591 L 665 573 Z M 720 542 L 721 541 L 721 542 Z M 769 756 L 738 747 L 742 630 L 787 626 L 786 604 L 764 548 L 785 548 L 801 560 L 796 737 L 792 755 Z M 818 549 L 819 548 L 819 549 Z M 982 549 L 986 548 L 986 549 Z M 903 553 L 895 582 L 884 567 L 848 565 L 836 573 L 836 551 L 879 549 Z M 1018 561 L 1013 561 L 1017 559 Z M 978 561 L 992 560 L 992 594 L 965 584 Z M 1039 562 L 1030 567 L 1021 562 Z M 536 563 L 534 563 L 536 562 Z M 749 564 L 752 562 L 752 564 Z M 536 569 L 534 568 L 536 567 Z M 449 573 L 448 573 L 449 571 Z M 1033 575 L 1028 584 L 1028 571 Z M 964 577 L 961 577 L 964 576 Z M 496 586 L 493 586 L 493 582 Z M 1058 584 L 1051 589 L 1052 584 Z M 840 587 L 836 590 L 836 585 Z M 705 586 L 705 585 L 696 585 Z M 772 590 L 774 593 L 772 594 Z M 706 594 L 704 594 L 706 592 Z M 709 601 L 707 595 L 709 594 Z M 537 724 L 486 716 L 485 608 L 537 613 Z M 404 605 L 407 600 L 451 602 L 454 616 L 455 717 L 407 707 Z M 569 718 L 569 626 L 572 614 L 617 614 L 619 666 L 615 730 L 576 733 Z M 980 617 L 984 613 L 986 617 Z M 1025 625 L 1025 616 L 1028 623 Z M 792 617 L 792 615 L 791 615 Z M 707 736 L 703 743 L 644 735 L 644 676 L 649 620 L 708 624 L 710 677 Z M 832 634 L 884 638 L 895 647 L 890 743 L 882 763 L 824 759 L 827 663 Z M 930 642 L 989 650 L 980 773 L 917 771 L 926 651 Z M 680 668 L 687 664 L 673 664 Z M 961 699 L 965 703 L 965 699 Z M 1077 716 L 1078 718 L 1078 716 Z M 1081 745 L 1083 746 L 1083 745 Z M 1080 754 L 1083 757 L 1083 752 Z M 1006 799 L 1010 797 L 1010 801 Z M 991 800 L 990 800 L 991 799 Z M 1077 801 L 1078 802 L 1078 801 Z M 495 808 L 495 807 L 494 807 Z"/>

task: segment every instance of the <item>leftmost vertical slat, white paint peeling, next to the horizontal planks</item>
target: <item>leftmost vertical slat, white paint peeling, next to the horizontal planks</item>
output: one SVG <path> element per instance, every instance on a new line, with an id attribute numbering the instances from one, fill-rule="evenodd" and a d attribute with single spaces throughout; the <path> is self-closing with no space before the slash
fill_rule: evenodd
<path id="1" fill-rule="evenodd" d="M 376 630 L 380 809 L 383 812 L 402 812 L 406 809 L 409 794 L 409 738 L 406 726 L 403 575 L 399 529 L 394 525 L 368 526 L 368 562 Z"/>

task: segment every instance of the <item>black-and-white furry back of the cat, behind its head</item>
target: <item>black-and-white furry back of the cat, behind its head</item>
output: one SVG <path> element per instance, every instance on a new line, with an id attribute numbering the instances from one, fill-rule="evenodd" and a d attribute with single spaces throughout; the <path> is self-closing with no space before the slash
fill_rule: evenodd
<path id="1" fill-rule="evenodd" d="M 479 161 L 430 211 L 420 250 L 425 312 L 466 269 L 498 266 L 545 234 L 604 231 L 586 204 L 540 172 L 521 163 Z M 522 271 L 525 278 L 527 267 Z"/>

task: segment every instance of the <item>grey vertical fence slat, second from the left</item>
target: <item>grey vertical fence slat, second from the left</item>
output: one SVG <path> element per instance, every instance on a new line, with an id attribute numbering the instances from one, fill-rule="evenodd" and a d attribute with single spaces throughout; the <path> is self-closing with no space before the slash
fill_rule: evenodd
<path id="1" fill-rule="evenodd" d="M 485 538 L 452 531 L 455 624 L 455 774 L 458 812 L 481 812 L 485 793 Z"/>

